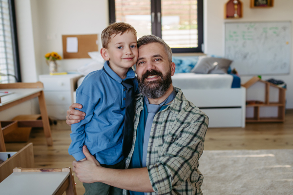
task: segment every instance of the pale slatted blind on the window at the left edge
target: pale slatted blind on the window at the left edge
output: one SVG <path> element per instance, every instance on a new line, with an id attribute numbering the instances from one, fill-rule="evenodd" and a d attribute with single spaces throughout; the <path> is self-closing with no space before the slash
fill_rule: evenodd
<path id="1" fill-rule="evenodd" d="M 0 83 L 16 82 L 8 0 L 0 0 Z"/>

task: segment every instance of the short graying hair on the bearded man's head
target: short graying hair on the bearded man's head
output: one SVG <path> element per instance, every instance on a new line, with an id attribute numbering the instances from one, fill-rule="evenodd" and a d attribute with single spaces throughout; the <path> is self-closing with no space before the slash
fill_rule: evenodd
<path id="1" fill-rule="evenodd" d="M 137 40 L 137 48 L 139 48 L 142 45 L 147 45 L 149 43 L 154 43 L 154 42 L 155 43 L 160 43 L 161 45 L 164 46 L 165 52 L 166 52 L 166 54 L 168 56 L 168 61 L 172 62 L 172 50 L 171 50 L 171 48 L 169 47 L 169 45 L 167 45 L 167 43 L 163 39 L 161 39 L 159 37 L 156 37 L 154 35 L 145 35 L 145 36 L 143 36 L 143 37 L 141 37 L 141 38 L 139 38 Z"/>

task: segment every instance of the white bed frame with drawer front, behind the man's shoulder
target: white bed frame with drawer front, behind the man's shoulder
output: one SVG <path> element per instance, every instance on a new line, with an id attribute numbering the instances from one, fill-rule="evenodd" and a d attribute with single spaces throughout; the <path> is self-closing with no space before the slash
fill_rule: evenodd
<path id="1" fill-rule="evenodd" d="M 182 89 L 209 117 L 209 127 L 245 127 L 246 89 Z"/>

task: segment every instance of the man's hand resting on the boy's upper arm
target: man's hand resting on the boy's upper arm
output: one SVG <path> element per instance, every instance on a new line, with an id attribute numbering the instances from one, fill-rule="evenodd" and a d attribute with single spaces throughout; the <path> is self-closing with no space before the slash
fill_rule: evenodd
<path id="1" fill-rule="evenodd" d="M 69 110 L 67 110 L 66 123 L 71 126 L 71 124 L 78 123 L 84 119 L 85 113 L 79 110 L 75 110 L 75 108 L 83 108 L 81 104 L 73 103 L 69 106 Z"/>

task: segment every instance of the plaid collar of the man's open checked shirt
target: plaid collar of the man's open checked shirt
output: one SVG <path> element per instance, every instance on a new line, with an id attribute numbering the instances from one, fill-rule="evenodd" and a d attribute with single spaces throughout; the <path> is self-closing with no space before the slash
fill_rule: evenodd
<path id="1" fill-rule="evenodd" d="M 188 104 L 188 100 L 185 98 L 180 88 L 174 87 L 174 90 L 177 95 L 166 109 L 170 109 L 170 111 L 178 115 L 181 110 Z M 135 100 L 136 102 L 140 103 L 140 105 L 137 104 L 138 106 L 144 106 L 144 96 L 142 94 L 138 94 Z"/>

